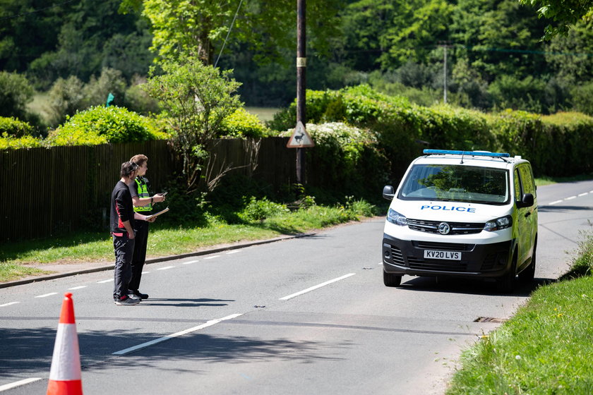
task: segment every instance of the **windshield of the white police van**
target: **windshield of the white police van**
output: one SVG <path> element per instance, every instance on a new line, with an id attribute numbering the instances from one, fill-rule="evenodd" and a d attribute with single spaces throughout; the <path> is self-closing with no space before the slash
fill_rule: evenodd
<path id="1" fill-rule="evenodd" d="M 417 164 L 398 198 L 503 205 L 509 200 L 508 172 L 477 166 Z"/>

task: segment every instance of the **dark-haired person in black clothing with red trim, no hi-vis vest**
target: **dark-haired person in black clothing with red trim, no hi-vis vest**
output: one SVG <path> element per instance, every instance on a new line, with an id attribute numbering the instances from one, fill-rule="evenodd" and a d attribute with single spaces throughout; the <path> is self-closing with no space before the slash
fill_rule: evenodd
<path id="1" fill-rule="evenodd" d="M 138 165 L 132 162 L 121 164 L 121 179 L 116 183 L 111 197 L 111 233 L 115 252 L 114 291 L 116 305 L 136 305 L 140 298 L 128 295 L 128 283 L 131 278 L 131 261 L 134 251 L 134 220 L 146 221 L 146 216 L 135 213 L 128 184 L 138 174 Z M 154 221 L 154 218 L 150 219 Z"/>

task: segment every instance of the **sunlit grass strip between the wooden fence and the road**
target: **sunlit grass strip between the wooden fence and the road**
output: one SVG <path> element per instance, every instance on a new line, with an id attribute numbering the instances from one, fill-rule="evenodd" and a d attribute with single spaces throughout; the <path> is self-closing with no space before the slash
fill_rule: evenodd
<path id="1" fill-rule="evenodd" d="M 349 207 L 315 205 L 309 209 L 279 212 L 245 224 L 227 224 L 216 218 L 210 218 L 206 226 L 167 227 L 156 222 L 151 226 L 147 255 L 179 255 L 212 245 L 294 235 L 372 215 L 373 206 L 359 201 Z M 3 243 L 0 244 L 0 281 L 44 274 L 27 266 L 31 264 L 113 260 L 113 243 L 108 232 L 68 233 L 41 240 Z"/>

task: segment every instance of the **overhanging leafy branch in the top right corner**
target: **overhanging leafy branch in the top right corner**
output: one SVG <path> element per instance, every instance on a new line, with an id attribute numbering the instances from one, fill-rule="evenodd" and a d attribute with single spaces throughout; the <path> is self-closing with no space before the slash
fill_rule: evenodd
<path id="1" fill-rule="evenodd" d="M 579 20 L 593 19 L 593 0 L 519 0 L 521 4 L 539 7 L 539 18 L 551 19 L 556 25 L 549 24 L 544 29 L 544 39 L 556 35 L 567 35 L 572 25 Z"/>

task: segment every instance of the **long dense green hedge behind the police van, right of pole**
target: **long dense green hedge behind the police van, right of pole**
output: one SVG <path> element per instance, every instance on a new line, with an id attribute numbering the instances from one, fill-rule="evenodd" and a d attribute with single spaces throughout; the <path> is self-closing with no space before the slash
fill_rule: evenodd
<path id="1" fill-rule="evenodd" d="M 489 150 L 521 155 L 537 176 L 574 176 L 593 171 L 593 117 L 580 113 L 551 116 L 525 111 L 480 111 L 438 105 L 421 107 L 366 85 L 338 91 L 307 91 L 310 122 L 342 121 L 369 128 L 390 160 L 391 177 L 401 176 L 424 147 Z M 270 126 L 294 128 L 296 104 Z"/>

